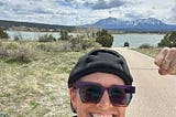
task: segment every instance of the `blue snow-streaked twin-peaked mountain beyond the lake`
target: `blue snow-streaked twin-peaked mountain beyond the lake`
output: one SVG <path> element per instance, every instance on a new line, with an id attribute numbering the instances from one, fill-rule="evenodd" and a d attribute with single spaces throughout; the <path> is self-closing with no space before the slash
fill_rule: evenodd
<path id="1" fill-rule="evenodd" d="M 170 25 L 162 22 L 161 20 L 148 18 L 138 19 L 134 21 L 123 21 L 116 18 L 101 19 L 94 24 L 86 24 L 84 28 L 95 26 L 107 30 L 121 30 L 121 31 L 174 31 L 176 25 Z"/>

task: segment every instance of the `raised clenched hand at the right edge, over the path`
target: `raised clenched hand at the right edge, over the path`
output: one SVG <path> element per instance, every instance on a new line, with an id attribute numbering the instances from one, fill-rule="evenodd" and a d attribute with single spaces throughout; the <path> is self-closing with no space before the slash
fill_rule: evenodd
<path id="1" fill-rule="evenodd" d="M 155 57 L 155 64 L 160 67 L 161 75 L 176 75 L 176 47 L 164 47 Z"/>

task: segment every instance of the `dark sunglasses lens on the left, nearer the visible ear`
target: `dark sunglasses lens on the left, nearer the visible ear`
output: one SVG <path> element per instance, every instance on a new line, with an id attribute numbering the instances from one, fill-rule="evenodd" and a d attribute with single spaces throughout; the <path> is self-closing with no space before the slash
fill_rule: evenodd
<path id="1" fill-rule="evenodd" d="M 96 85 L 85 85 L 79 88 L 81 102 L 84 103 L 98 103 L 101 98 L 101 87 Z"/>

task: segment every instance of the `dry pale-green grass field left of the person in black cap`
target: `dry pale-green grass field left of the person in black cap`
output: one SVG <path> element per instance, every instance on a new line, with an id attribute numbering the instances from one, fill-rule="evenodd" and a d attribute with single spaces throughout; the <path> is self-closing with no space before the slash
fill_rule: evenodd
<path id="1" fill-rule="evenodd" d="M 0 114 L 70 117 L 67 77 L 84 52 L 33 51 L 35 60 L 29 63 L 0 59 Z"/>

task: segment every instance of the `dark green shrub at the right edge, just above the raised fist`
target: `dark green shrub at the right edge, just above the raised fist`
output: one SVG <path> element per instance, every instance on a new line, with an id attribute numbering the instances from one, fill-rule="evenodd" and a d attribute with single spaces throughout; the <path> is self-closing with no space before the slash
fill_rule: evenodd
<path id="1" fill-rule="evenodd" d="M 160 47 L 169 46 L 176 47 L 176 31 L 168 32 L 164 39 L 158 43 Z"/>

